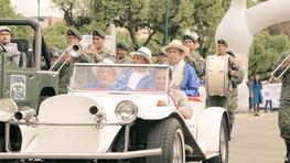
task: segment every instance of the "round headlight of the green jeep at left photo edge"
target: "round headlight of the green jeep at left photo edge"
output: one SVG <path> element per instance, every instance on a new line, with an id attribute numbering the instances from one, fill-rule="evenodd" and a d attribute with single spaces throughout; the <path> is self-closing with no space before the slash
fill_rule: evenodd
<path id="1" fill-rule="evenodd" d="M 13 100 L 9 98 L 0 99 L 0 121 L 12 120 L 17 111 L 18 106 Z"/>

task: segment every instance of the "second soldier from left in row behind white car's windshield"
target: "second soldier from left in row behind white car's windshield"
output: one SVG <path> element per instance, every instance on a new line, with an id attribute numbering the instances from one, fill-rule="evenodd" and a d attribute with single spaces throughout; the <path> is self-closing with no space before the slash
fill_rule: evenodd
<path id="1" fill-rule="evenodd" d="M 96 29 L 93 31 L 93 44 L 88 46 L 87 53 L 89 53 L 94 58 L 95 63 L 108 58 L 114 61 L 114 56 L 110 55 L 110 51 L 105 47 L 106 34 L 104 31 Z"/>

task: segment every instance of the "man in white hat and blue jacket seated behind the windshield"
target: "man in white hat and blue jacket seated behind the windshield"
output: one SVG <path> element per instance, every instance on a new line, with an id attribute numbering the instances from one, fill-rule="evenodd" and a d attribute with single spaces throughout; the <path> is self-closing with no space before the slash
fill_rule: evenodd
<path id="1" fill-rule="evenodd" d="M 133 64 L 151 64 L 151 51 L 144 46 L 137 52 L 130 53 Z M 135 67 L 126 70 L 117 78 L 114 90 L 135 90 L 135 89 L 150 89 L 154 87 L 153 75 L 142 67 Z"/>

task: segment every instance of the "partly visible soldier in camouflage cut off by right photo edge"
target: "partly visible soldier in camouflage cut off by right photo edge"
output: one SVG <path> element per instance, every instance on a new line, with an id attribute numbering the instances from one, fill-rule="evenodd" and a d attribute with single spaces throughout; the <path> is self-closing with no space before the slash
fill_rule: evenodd
<path id="1" fill-rule="evenodd" d="M 278 67 L 290 55 L 289 53 L 283 53 L 280 55 L 279 59 L 276 62 L 275 67 Z M 277 73 L 280 74 L 284 68 L 290 66 L 290 56 L 288 59 L 278 68 Z M 275 73 L 276 74 L 276 73 Z M 287 154 L 284 157 L 284 163 L 290 163 L 290 68 L 282 76 L 282 88 L 280 96 L 280 106 L 278 110 L 278 122 L 280 129 L 280 135 L 286 142 Z"/>

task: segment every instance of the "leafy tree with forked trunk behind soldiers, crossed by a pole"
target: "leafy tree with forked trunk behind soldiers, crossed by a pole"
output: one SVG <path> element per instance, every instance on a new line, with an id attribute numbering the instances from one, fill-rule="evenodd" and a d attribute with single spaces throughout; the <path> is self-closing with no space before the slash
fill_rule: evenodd
<path id="1" fill-rule="evenodd" d="M 138 48 L 140 45 L 148 45 L 155 34 L 164 32 L 162 7 L 160 0 L 95 0 L 92 14 L 96 21 L 127 29 L 135 48 Z M 180 29 L 190 25 L 193 7 L 194 2 L 191 0 L 169 1 L 170 39 L 176 37 Z M 139 43 L 137 32 L 141 29 L 147 29 L 149 36 Z"/>

